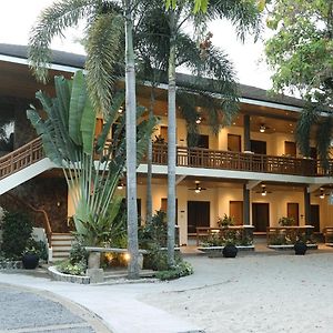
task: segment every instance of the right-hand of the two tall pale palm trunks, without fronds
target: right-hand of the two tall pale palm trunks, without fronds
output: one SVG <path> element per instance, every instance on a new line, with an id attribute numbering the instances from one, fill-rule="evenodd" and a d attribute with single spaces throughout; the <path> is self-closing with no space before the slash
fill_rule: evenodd
<path id="1" fill-rule="evenodd" d="M 175 13 L 170 10 L 168 87 L 168 264 L 174 265 L 175 229 Z"/>

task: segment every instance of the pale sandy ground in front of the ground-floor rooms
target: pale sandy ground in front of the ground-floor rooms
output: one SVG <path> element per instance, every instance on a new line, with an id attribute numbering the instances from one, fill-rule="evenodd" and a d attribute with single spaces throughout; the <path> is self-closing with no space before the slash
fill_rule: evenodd
<path id="1" fill-rule="evenodd" d="M 333 253 L 186 259 L 195 274 L 139 300 L 206 333 L 333 332 Z"/>

